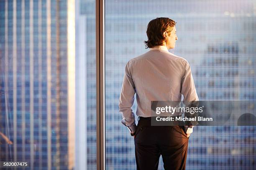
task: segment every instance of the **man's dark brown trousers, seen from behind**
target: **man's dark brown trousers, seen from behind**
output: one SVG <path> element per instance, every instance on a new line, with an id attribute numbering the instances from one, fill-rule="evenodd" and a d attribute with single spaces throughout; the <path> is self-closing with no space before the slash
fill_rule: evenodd
<path id="1" fill-rule="evenodd" d="M 188 141 L 182 126 L 151 126 L 140 117 L 134 138 L 137 170 L 157 170 L 162 155 L 165 170 L 185 170 Z"/>

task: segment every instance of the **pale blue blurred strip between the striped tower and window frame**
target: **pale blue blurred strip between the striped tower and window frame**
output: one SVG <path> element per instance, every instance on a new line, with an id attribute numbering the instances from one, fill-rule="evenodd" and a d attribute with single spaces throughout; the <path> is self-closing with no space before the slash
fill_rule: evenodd
<path id="1" fill-rule="evenodd" d="M 95 0 L 76 0 L 76 169 L 96 170 Z"/>

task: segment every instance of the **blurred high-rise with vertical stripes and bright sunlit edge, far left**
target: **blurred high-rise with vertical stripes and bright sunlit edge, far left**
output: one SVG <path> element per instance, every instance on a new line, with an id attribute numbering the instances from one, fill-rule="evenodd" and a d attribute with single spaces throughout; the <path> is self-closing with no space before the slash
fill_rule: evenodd
<path id="1" fill-rule="evenodd" d="M 72 0 L 0 1 L 0 161 L 74 168 L 74 31 Z"/>

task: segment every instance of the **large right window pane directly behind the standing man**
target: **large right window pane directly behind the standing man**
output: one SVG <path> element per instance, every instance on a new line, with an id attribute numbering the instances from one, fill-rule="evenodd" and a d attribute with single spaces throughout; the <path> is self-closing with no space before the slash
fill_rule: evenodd
<path id="1" fill-rule="evenodd" d="M 177 22 L 169 52 L 190 63 L 199 100 L 255 100 L 255 4 L 251 0 L 105 0 L 106 168 L 136 169 L 134 139 L 121 124 L 118 99 L 126 63 L 148 51 L 150 20 Z M 136 100 L 136 97 L 135 97 Z M 136 113 L 136 101 L 132 107 Z M 137 124 L 136 117 L 136 124 Z M 186 169 L 255 167 L 255 127 L 195 127 Z M 160 158 L 159 169 L 163 170 Z"/>

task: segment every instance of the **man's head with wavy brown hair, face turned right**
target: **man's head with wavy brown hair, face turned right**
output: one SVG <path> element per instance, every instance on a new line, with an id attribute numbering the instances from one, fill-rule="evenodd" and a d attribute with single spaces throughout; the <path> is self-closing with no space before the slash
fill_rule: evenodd
<path id="1" fill-rule="evenodd" d="M 175 47 L 178 40 L 176 35 L 176 22 L 169 18 L 156 18 L 148 23 L 148 40 L 144 41 L 146 48 L 152 48 L 156 45 L 164 45 L 168 49 Z"/>

